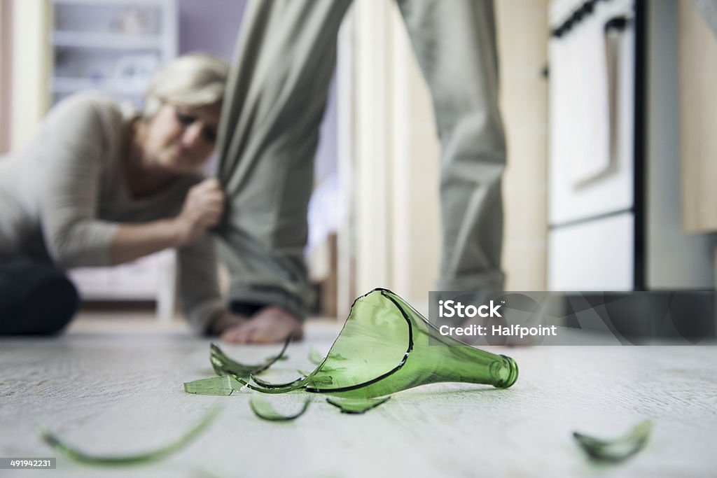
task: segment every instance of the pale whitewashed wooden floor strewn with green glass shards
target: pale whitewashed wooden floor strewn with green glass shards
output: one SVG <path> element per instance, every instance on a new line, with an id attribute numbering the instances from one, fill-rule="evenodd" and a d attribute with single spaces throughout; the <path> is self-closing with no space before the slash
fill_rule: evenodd
<path id="1" fill-rule="evenodd" d="M 325 353 L 338 330 L 310 322 L 305 342 L 277 364 L 281 376 L 267 379 L 311 368 L 309 345 Z M 424 386 L 361 416 L 313 396 L 304 416 L 278 424 L 252 414 L 248 392 L 184 393 L 184 381 L 212 376 L 208 345 L 181 325 L 141 317 L 82 319 L 60 338 L 0 340 L 0 457 L 57 457 L 36 424 L 87 451 L 142 451 L 224 405 L 198 441 L 152 467 L 103 471 L 58 457 L 57 470 L 0 477 L 708 477 L 717 469 L 712 347 L 503 348 L 521 369 L 508 390 Z M 259 360 L 276 348 L 225 350 Z M 303 400 L 269 398 L 287 411 Z M 614 467 L 590 464 L 571 439 L 574 430 L 617 436 L 645 418 L 654 421 L 647 448 Z"/>

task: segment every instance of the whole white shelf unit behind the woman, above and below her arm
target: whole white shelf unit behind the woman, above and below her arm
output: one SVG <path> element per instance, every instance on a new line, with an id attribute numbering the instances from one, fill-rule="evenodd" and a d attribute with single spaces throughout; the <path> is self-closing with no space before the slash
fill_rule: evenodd
<path id="1" fill-rule="evenodd" d="M 148 81 L 176 57 L 176 0 L 48 0 L 53 103 L 95 90 L 140 106 Z M 118 267 L 70 272 L 84 300 L 156 301 L 160 320 L 174 315 L 176 254 L 164 251 Z"/>

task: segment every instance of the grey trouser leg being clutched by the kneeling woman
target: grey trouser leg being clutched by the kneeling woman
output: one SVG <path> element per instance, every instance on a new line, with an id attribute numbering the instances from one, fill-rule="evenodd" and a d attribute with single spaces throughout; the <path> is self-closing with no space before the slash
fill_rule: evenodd
<path id="1" fill-rule="evenodd" d="M 336 35 L 349 5 L 265 0 L 244 12 L 219 140 L 219 179 L 229 199 L 218 244 L 239 313 L 278 306 L 301 318 L 311 301 L 306 211 Z"/>

